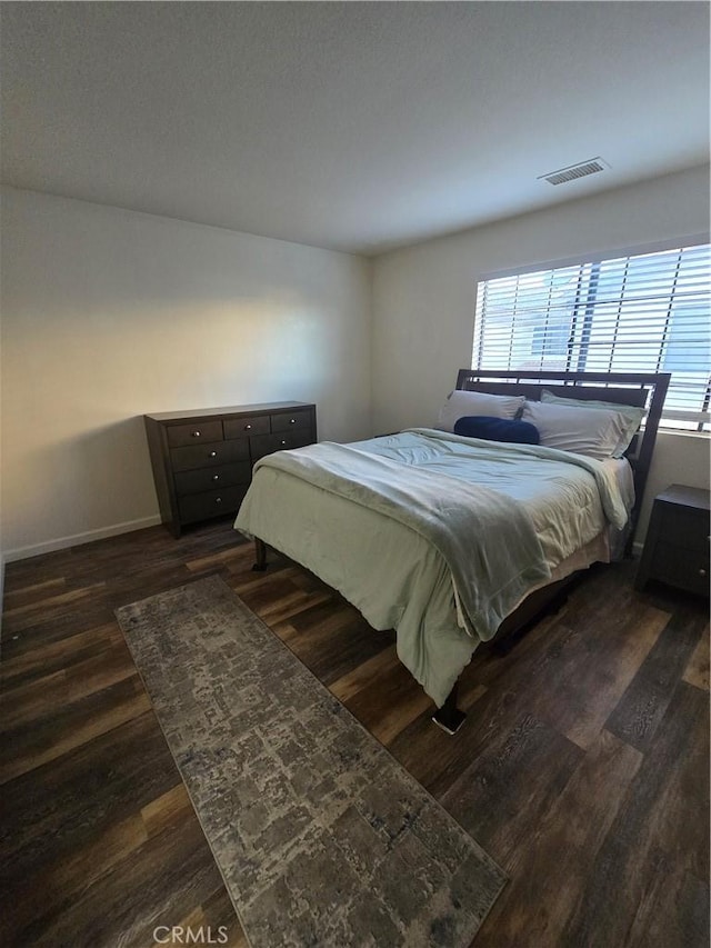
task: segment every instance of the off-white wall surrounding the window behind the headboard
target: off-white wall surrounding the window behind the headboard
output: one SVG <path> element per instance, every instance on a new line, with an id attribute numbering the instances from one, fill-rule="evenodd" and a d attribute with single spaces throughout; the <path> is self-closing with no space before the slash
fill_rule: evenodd
<path id="1" fill-rule="evenodd" d="M 373 420 L 375 430 L 433 422 L 457 370 L 471 365 L 477 281 L 515 267 L 625 250 L 708 233 L 709 169 L 570 201 L 375 258 Z M 709 486 L 708 441 L 664 436 L 655 486 Z M 691 445 L 691 446 L 690 446 Z M 649 497 L 638 530 L 642 539 Z"/>

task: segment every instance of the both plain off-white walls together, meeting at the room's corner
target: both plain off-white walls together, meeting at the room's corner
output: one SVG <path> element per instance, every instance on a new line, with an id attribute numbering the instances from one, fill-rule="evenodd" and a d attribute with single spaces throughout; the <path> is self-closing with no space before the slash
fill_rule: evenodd
<path id="1" fill-rule="evenodd" d="M 144 412 L 294 398 L 334 440 L 429 423 L 470 362 L 479 275 L 708 224 L 698 169 L 369 263 L 4 189 L 2 550 L 157 522 Z M 650 495 L 672 481 L 708 486 L 708 442 L 660 438 Z"/>

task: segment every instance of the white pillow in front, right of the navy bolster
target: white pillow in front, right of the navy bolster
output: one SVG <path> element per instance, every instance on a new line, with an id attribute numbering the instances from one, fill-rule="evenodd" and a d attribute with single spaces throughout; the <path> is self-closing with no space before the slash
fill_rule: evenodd
<path id="1" fill-rule="evenodd" d="M 628 428 L 619 411 L 542 401 L 527 401 L 521 420 L 535 425 L 541 445 L 599 461 L 612 457 Z"/>

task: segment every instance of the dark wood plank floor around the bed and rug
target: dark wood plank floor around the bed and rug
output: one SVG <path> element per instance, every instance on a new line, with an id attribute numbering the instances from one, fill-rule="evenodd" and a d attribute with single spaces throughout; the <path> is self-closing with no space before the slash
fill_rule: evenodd
<path id="1" fill-rule="evenodd" d="M 635 592 L 631 562 L 591 570 L 508 653 L 474 657 L 449 738 L 391 633 L 304 570 L 252 561 L 222 521 L 7 567 L 0 944 L 143 948 L 190 925 L 247 945 L 113 617 L 209 573 L 508 872 L 475 948 L 709 944 L 705 602 Z"/>

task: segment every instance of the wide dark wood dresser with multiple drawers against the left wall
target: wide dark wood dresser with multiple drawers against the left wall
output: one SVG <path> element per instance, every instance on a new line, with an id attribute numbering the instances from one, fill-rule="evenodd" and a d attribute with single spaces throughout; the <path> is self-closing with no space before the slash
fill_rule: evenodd
<path id="1" fill-rule="evenodd" d="M 161 520 L 189 523 L 237 513 L 264 455 L 316 441 L 316 406 L 301 401 L 144 415 Z"/>

